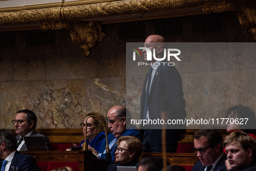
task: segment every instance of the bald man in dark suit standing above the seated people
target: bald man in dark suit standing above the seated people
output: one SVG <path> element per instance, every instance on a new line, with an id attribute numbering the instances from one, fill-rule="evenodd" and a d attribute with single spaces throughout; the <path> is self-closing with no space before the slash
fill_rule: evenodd
<path id="1" fill-rule="evenodd" d="M 185 119 L 185 100 L 180 74 L 174 66 L 167 64 L 168 61 L 161 60 L 164 56 L 165 39 L 160 35 L 150 35 L 144 47 L 150 49 L 159 60 L 152 58 L 152 61 L 147 61 L 152 62 L 152 66 L 143 85 L 140 119 L 161 119 L 162 108 L 168 111 L 165 123 L 167 119 Z M 143 49 L 142 52 L 144 61 L 146 61 L 147 51 Z M 162 152 L 162 125 L 141 126 L 140 132 L 143 152 Z M 172 129 L 171 127 L 166 129 L 166 152 L 176 152 L 178 141 L 184 139 L 185 132 L 185 129 Z"/>

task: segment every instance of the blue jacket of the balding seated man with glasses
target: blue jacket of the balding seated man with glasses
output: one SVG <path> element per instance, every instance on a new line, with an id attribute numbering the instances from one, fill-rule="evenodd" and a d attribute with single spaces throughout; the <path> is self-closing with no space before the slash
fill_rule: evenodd
<path id="1" fill-rule="evenodd" d="M 135 126 L 133 126 L 132 129 L 126 129 L 126 131 L 121 136 L 136 136 L 136 137 L 139 138 L 139 130 L 136 129 Z M 108 144 L 110 144 L 110 142 L 113 139 L 115 139 L 115 136 L 113 136 L 112 133 L 109 133 L 107 135 L 107 142 L 108 142 Z M 106 141 L 103 141 L 102 144 L 101 144 L 100 150 L 99 150 L 100 153 L 103 153 L 105 151 L 106 145 L 107 145 Z M 115 161 L 115 148 L 116 147 L 117 147 L 117 144 L 114 145 L 114 147 L 110 149 L 110 154 L 111 154 L 111 161 L 110 161 L 110 163 L 113 163 Z M 102 154 L 100 158 L 104 158 L 105 159 L 106 158 L 105 154 Z"/>

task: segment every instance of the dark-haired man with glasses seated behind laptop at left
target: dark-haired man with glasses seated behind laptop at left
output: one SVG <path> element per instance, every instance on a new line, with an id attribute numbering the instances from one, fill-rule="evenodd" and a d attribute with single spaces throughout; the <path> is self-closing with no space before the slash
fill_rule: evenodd
<path id="1" fill-rule="evenodd" d="M 43 136 L 47 149 L 50 150 L 49 139 L 46 136 L 35 131 L 36 121 L 36 114 L 31 110 L 26 109 L 19 110 L 16 114 L 15 119 L 12 120 L 12 123 L 15 126 L 15 132 L 16 134 L 18 134 L 18 136 L 16 136 L 18 151 L 28 151 L 25 141 L 23 139 L 24 136 Z"/>

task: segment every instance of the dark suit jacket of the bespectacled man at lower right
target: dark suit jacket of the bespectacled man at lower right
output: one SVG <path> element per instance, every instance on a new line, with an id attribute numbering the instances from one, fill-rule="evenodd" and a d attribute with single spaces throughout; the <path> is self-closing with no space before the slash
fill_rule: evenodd
<path id="1" fill-rule="evenodd" d="M 217 165 L 215 166 L 214 170 L 213 171 L 226 171 L 227 168 L 225 166 L 225 160 L 227 160 L 227 155 L 224 154 L 219 162 L 217 163 Z M 205 166 L 202 165 L 201 161 L 197 161 L 193 168 L 192 168 L 192 171 L 204 171 L 204 168 Z"/>

